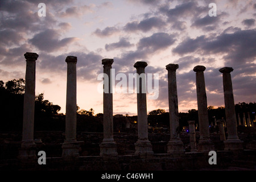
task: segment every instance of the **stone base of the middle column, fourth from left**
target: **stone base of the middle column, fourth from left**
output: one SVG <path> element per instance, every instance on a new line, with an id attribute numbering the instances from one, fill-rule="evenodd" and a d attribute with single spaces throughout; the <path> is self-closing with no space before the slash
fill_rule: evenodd
<path id="1" fill-rule="evenodd" d="M 153 155 L 152 145 L 149 140 L 138 140 L 135 144 L 135 155 Z"/>

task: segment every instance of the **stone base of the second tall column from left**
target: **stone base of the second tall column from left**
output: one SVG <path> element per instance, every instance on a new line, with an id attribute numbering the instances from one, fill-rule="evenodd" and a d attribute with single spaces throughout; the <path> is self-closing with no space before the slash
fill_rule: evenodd
<path id="1" fill-rule="evenodd" d="M 84 141 L 65 140 L 61 147 L 62 148 L 62 157 L 63 158 L 78 158 L 80 145 L 83 143 L 84 143 Z"/>

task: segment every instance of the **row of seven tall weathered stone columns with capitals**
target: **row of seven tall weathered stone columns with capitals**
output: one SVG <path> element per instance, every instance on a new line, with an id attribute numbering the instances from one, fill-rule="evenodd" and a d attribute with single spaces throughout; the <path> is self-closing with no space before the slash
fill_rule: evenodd
<path id="1" fill-rule="evenodd" d="M 36 53 L 27 52 L 24 54 L 27 62 L 26 66 L 26 86 L 24 93 L 24 113 L 23 113 L 23 135 L 22 145 L 19 150 L 19 158 L 35 158 L 34 142 L 34 107 L 35 107 L 35 61 L 38 58 Z M 66 99 L 66 119 L 65 119 L 65 140 L 62 145 L 64 158 L 79 156 L 79 146 L 82 142 L 76 140 L 76 63 L 77 57 L 67 56 L 67 99 Z M 104 73 L 109 80 L 104 80 L 104 86 L 112 90 L 112 68 L 113 59 L 103 59 Z M 145 73 L 144 68 L 147 63 L 138 61 L 134 64 L 138 75 Z M 179 137 L 179 117 L 177 105 L 177 84 L 176 69 L 177 64 L 168 64 L 168 101 L 170 110 L 170 140 L 167 144 L 169 154 L 180 154 L 184 152 L 183 142 Z M 197 144 L 197 151 L 204 152 L 213 150 L 213 143 L 210 141 L 209 122 L 207 111 L 207 95 L 205 92 L 204 71 L 205 67 L 198 65 L 193 71 L 196 72 L 197 106 L 199 113 L 200 140 Z M 228 139 L 225 140 L 225 150 L 235 150 L 241 148 L 241 140 L 237 137 L 236 114 L 234 110 L 234 98 L 230 72 L 233 68 L 224 67 L 220 69 L 223 73 L 225 113 L 228 127 Z M 144 75 L 144 74 L 143 74 Z M 145 75 L 144 75 L 145 76 Z M 135 143 L 135 155 L 152 155 L 152 146 L 148 140 L 147 125 L 147 101 L 146 93 L 142 93 L 143 86 L 146 86 L 140 79 L 137 81 L 137 111 L 138 111 L 138 141 Z M 104 89 L 105 90 L 105 89 Z M 113 94 L 104 92 L 104 139 L 100 144 L 101 156 L 116 156 L 117 144 L 113 139 Z M 193 122 L 189 122 L 192 126 Z M 195 130 L 195 128 L 194 128 Z M 195 146 L 193 146 L 195 150 Z"/>

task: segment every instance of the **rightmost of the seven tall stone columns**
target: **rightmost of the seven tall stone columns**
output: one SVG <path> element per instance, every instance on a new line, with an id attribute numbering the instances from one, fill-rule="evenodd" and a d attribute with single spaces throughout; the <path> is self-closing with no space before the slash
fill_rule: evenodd
<path id="1" fill-rule="evenodd" d="M 238 139 L 237 135 L 237 119 L 234 107 L 234 96 L 232 88 L 232 80 L 230 72 L 233 71 L 231 67 L 224 67 L 219 69 L 223 73 L 223 88 L 224 88 L 224 101 L 226 113 L 226 125 L 228 130 L 228 139 L 224 142 L 224 150 L 240 150 L 242 149 L 242 141 Z"/>

